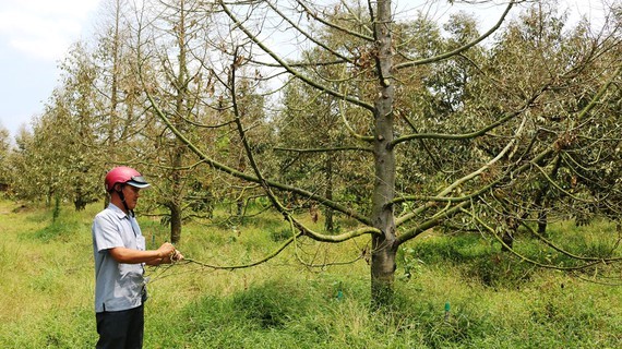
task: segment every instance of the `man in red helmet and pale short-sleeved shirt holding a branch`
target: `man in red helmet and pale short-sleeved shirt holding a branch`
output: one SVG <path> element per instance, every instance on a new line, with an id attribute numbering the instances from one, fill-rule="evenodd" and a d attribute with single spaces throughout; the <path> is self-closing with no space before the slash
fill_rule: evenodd
<path id="1" fill-rule="evenodd" d="M 116 167 L 106 174 L 110 204 L 93 221 L 97 348 L 142 348 L 146 285 L 144 265 L 172 263 L 183 256 L 170 243 L 145 249 L 134 208 L 149 186 L 135 169 Z"/>

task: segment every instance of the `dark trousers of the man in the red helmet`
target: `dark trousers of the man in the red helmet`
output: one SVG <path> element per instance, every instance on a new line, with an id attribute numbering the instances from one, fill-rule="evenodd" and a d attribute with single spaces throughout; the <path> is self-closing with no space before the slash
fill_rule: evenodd
<path id="1" fill-rule="evenodd" d="M 95 314 L 99 340 L 96 348 L 141 349 L 145 325 L 144 306 Z"/>

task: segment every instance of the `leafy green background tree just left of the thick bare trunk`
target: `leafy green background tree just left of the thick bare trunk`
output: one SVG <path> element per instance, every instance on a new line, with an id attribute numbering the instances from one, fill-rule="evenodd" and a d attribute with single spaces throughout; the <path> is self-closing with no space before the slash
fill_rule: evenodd
<path id="1" fill-rule="evenodd" d="M 312 56 L 313 52 L 308 55 Z M 322 58 L 318 57 L 316 60 Z M 331 67 L 321 67 L 309 73 L 336 82 L 340 72 Z M 367 148 L 349 143 L 349 133 L 340 128 L 342 122 L 338 99 L 318 94 L 298 81 L 289 83 L 284 93 L 283 115 L 276 120 L 276 151 L 282 154 L 278 172 L 283 173 L 279 180 L 308 188 L 331 201 L 364 207 L 362 203 L 369 198 L 371 189 L 364 186 L 363 178 L 368 169 L 357 165 L 371 154 Z M 297 202 L 296 198 L 300 197 L 291 197 L 287 202 L 290 208 L 304 206 L 313 220 L 318 220 L 320 208 L 323 208 L 325 230 L 335 231 L 333 208 L 318 207 L 316 203 L 306 198 Z"/>

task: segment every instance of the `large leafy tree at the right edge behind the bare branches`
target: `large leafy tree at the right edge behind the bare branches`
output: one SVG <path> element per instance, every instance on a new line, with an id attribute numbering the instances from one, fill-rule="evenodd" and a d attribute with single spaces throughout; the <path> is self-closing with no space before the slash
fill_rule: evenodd
<path id="1" fill-rule="evenodd" d="M 512 237 L 517 233 L 519 225 L 528 221 L 526 219 L 537 221 L 540 236 L 547 232 L 550 214 L 554 216 L 553 220 L 559 220 L 582 217 L 585 212 L 594 214 L 596 209 L 601 215 L 617 219 L 617 214 L 611 215 L 611 212 L 596 208 L 601 204 L 610 206 L 605 204 L 605 197 L 615 192 L 611 185 L 613 182 L 606 184 L 596 169 L 612 158 L 611 155 L 605 156 L 609 153 L 605 149 L 614 149 L 618 141 L 606 134 L 596 135 L 601 131 L 594 124 L 607 124 L 609 112 L 600 107 L 590 113 L 584 111 L 602 83 L 601 79 L 593 74 L 603 76 L 615 67 L 611 59 L 617 55 L 614 48 L 619 45 L 619 39 L 607 29 L 595 41 L 589 37 L 588 23 L 582 22 L 575 27 L 569 27 L 565 23 L 566 19 L 558 15 L 551 4 L 540 3 L 529 9 L 509 25 L 500 43 L 492 49 L 488 62 L 481 65 L 482 70 L 490 72 L 483 75 L 485 79 L 499 75 L 503 80 L 490 81 L 491 83 L 478 81 L 478 89 L 486 88 L 477 94 L 481 96 L 479 100 L 490 97 L 505 104 L 518 104 L 521 100 L 512 101 L 512 96 L 534 93 L 541 86 L 548 85 L 547 89 L 551 87 L 528 110 L 527 139 L 518 152 L 522 156 L 528 153 L 535 156 L 551 144 L 555 152 L 535 165 L 537 171 L 525 172 L 519 183 L 516 182 L 507 190 L 505 186 L 498 188 L 497 196 L 489 201 L 489 204 L 494 203 L 492 210 L 499 213 L 489 213 L 490 217 L 494 217 L 498 225 L 502 222 L 499 229 L 503 231 L 503 241 L 510 248 Z M 522 64 L 516 62 L 516 57 L 522 58 Z M 488 105 L 502 107 L 493 103 Z M 586 129 L 587 124 L 591 127 Z M 618 129 L 614 124 L 607 128 L 610 131 Z M 591 134 L 587 136 L 590 140 L 600 140 L 586 144 L 599 144 L 598 148 L 603 149 L 602 153 L 590 155 L 590 146 L 579 145 L 583 143 L 579 140 L 586 133 Z M 573 139 L 570 143 L 569 136 Z M 502 146 L 501 142 L 494 140 L 486 140 L 478 145 L 487 154 L 492 154 L 494 148 Z M 590 159 L 590 165 L 583 163 L 583 159 Z M 586 168 L 590 170 L 585 171 Z M 587 193 L 582 189 L 582 183 L 591 183 L 591 186 L 597 185 L 602 191 Z M 575 195 L 578 192 L 583 193 Z M 500 196 L 502 200 L 497 200 Z"/>

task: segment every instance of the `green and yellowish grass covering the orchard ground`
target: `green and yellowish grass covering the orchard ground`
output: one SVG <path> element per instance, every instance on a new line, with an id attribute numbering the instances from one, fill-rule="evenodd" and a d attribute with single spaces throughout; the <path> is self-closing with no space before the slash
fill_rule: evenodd
<path id="1" fill-rule="evenodd" d="M 51 209 L 15 207 L 0 201 L 0 348 L 93 348 L 89 227 L 100 204 L 81 213 L 63 206 L 53 222 Z M 140 221 L 151 246 L 167 239 L 159 222 Z M 609 228 L 561 225 L 551 233 L 606 253 L 598 236 L 611 234 Z M 271 217 L 236 227 L 188 225 L 178 248 L 196 261 L 232 265 L 256 261 L 286 236 Z M 145 348 L 618 348 L 622 341 L 620 287 L 534 268 L 476 236 L 427 234 L 403 249 L 396 304 L 384 312 L 369 311 L 364 261 L 320 273 L 298 263 L 349 260 L 364 243 L 301 241 L 248 269 L 149 269 Z M 528 239 L 517 243 L 535 249 Z"/>

